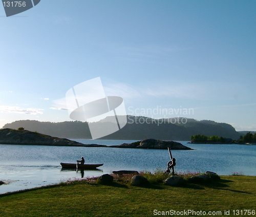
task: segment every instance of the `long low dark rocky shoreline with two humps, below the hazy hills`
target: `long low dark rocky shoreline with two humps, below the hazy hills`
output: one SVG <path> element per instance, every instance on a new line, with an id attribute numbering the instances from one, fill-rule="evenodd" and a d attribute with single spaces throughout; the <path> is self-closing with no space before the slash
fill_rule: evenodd
<path id="1" fill-rule="evenodd" d="M 50 146 L 80 146 L 80 147 L 115 147 L 115 148 L 145 148 L 145 149 L 176 149 L 176 150 L 192 150 L 191 148 L 174 141 L 162 141 L 156 139 L 144 139 L 142 141 L 130 144 L 123 143 L 120 145 L 98 145 L 98 144 L 82 144 L 80 142 L 69 139 L 61 139 L 36 132 L 17 130 L 17 129 L 0 129 L 0 144 L 13 145 L 50 145 Z"/>

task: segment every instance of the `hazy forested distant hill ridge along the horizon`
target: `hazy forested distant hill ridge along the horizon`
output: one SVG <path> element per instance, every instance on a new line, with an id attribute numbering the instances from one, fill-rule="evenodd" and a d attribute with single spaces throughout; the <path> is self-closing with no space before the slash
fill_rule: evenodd
<path id="1" fill-rule="evenodd" d="M 127 124 L 119 131 L 105 136 L 102 139 L 143 140 L 154 138 L 158 140 L 180 140 L 188 141 L 190 136 L 201 134 L 205 136 L 222 136 L 237 140 L 240 133 L 230 124 L 217 123 L 215 121 L 195 119 L 152 119 L 148 117 L 127 116 Z M 186 123 L 185 121 L 186 120 Z M 105 124 L 109 118 L 105 118 L 94 124 Z M 38 132 L 59 138 L 91 139 L 87 122 L 65 121 L 65 122 L 40 122 L 35 120 L 19 120 L 5 124 L 3 128 L 17 129 L 24 127 L 28 131 Z"/>

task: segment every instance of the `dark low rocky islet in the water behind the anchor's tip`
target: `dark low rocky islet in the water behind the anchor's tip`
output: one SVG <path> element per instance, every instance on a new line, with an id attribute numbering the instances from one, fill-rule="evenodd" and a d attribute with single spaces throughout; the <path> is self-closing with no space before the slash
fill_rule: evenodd
<path id="1" fill-rule="evenodd" d="M 179 142 L 174 141 L 162 141 L 156 139 L 144 139 L 142 141 L 133 142 L 130 144 L 123 143 L 121 145 L 112 145 L 110 147 L 116 148 L 145 148 L 145 149 L 175 149 L 175 150 L 193 150 Z"/>

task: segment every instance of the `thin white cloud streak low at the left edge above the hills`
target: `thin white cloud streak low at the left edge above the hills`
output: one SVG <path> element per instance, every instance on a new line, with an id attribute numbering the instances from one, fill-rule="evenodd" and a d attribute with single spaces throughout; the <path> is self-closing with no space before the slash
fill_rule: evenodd
<path id="1" fill-rule="evenodd" d="M 26 115 L 41 115 L 43 109 L 41 108 L 22 108 L 19 106 L 0 105 L 0 112 L 2 113 L 17 113 Z"/>

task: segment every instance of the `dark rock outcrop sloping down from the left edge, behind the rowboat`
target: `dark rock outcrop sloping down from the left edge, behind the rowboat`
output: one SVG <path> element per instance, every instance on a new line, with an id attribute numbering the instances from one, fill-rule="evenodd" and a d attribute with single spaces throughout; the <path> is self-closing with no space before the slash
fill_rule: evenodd
<path id="1" fill-rule="evenodd" d="M 9 128 L 0 129 L 0 144 L 106 147 L 105 145 L 82 144 L 69 139 Z"/>

